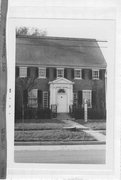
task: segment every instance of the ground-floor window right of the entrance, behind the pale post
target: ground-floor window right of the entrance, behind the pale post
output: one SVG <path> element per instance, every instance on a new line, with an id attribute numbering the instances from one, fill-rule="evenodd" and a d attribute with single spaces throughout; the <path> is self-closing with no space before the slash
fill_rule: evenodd
<path id="1" fill-rule="evenodd" d="M 83 105 L 85 100 L 87 101 L 88 108 L 92 107 L 92 91 L 91 90 L 83 90 L 82 91 Z"/>

